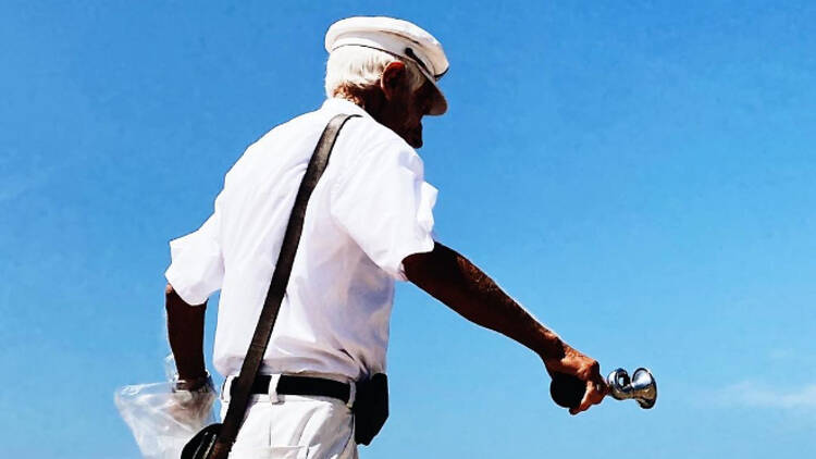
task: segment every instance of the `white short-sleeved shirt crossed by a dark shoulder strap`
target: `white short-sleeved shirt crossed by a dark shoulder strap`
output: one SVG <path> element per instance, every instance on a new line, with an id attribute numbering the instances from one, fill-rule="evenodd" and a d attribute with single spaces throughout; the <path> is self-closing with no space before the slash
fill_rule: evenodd
<path id="1" fill-rule="evenodd" d="M 309 200 L 261 372 L 358 380 L 385 371 L 394 281 L 405 280 L 403 259 L 433 249 L 436 189 L 405 140 L 356 104 L 329 99 L 251 145 L 212 215 L 170 243 L 165 275 L 186 302 L 221 289 L 213 361 L 225 376 L 240 369 L 300 179 L 338 113 L 361 116 L 341 131 Z"/>

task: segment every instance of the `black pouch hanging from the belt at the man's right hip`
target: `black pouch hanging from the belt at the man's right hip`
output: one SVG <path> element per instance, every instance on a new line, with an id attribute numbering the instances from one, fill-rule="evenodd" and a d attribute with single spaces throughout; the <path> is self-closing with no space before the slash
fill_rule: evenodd
<path id="1" fill-rule="evenodd" d="M 355 414 L 355 442 L 370 444 L 388 419 L 388 377 L 384 373 L 357 383 L 351 411 Z"/>

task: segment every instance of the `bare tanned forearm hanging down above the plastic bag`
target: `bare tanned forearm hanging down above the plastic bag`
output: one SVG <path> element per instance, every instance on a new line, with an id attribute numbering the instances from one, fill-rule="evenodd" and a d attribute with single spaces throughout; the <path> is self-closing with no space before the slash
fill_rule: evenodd
<path id="1" fill-rule="evenodd" d="M 207 302 L 191 306 L 168 285 L 165 290 L 168 311 L 168 338 L 175 357 L 178 377 L 195 380 L 206 374 L 203 358 L 203 324 Z"/>

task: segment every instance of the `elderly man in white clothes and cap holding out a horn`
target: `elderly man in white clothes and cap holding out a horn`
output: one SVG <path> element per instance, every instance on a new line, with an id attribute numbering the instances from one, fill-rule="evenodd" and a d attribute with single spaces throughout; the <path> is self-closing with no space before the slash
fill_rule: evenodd
<path id="1" fill-rule="evenodd" d="M 256 384 L 261 388 L 230 457 L 357 457 L 349 400 L 321 392 L 320 384 L 293 390 L 281 381 L 329 381 L 348 386 L 348 394 L 384 372 L 395 281 L 410 281 L 469 321 L 530 348 L 551 374 L 581 380 L 585 389 L 573 414 L 599 402 L 606 387 L 597 362 L 432 238 L 436 189 L 424 181 L 415 148 L 422 146 L 422 117 L 447 109 L 437 86 L 448 67 L 441 45 L 418 26 L 387 17 L 339 21 L 325 45 L 323 106 L 250 146 L 226 174 L 212 215 L 171 243 L 166 310 L 178 387 L 206 385 L 205 308 L 220 289 L 213 361 L 226 377 L 226 407 L 306 164 L 330 119 L 357 115 L 339 133 L 309 200 Z"/>

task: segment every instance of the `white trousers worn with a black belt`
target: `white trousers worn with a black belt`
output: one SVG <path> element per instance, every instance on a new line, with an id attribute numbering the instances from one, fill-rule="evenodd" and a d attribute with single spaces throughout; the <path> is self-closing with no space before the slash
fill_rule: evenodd
<path id="1" fill-rule="evenodd" d="M 227 406 L 222 395 L 221 419 Z M 354 415 L 346 404 L 332 397 L 252 396 L 230 459 L 307 458 L 357 459 Z"/>

